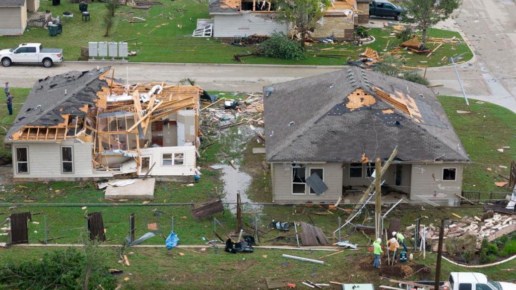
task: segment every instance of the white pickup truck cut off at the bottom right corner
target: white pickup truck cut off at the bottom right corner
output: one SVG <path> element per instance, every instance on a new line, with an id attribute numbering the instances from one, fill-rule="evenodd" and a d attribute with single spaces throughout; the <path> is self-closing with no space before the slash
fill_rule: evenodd
<path id="1" fill-rule="evenodd" d="M 423 289 L 424 285 L 433 286 L 434 281 L 416 281 L 407 284 L 407 289 Z M 495 282 L 482 273 L 451 272 L 448 281 L 441 281 L 441 289 L 447 290 L 516 290 L 516 284 Z"/>

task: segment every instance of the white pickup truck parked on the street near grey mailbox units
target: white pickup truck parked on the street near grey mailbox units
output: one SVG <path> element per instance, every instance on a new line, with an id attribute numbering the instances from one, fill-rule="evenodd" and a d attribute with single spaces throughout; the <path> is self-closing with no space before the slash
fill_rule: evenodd
<path id="1" fill-rule="evenodd" d="M 11 63 L 43 63 L 50 68 L 54 62 L 63 61 L 62 49 L 43 49 L 41 43 L 22 43 L 15 49 L 1 50 L 0 61 L 4 67 Z"/>

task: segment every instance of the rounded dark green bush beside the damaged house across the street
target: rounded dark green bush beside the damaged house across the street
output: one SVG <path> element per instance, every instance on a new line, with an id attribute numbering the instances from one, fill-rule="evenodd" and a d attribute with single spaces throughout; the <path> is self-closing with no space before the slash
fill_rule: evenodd
<path id="1" fill-rule="evenodd" d="M 267 40 L 260 44 L 258 50 L 261 55 L 281 59 L 299 60 L 305 57 L 301 45 L 282 33 L 272 34 Z"/>

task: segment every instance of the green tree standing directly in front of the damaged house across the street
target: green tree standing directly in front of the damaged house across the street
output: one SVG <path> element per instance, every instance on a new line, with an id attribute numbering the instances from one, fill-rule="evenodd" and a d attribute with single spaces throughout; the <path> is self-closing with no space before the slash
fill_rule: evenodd
<path id="1" fill-rule="evenodd" d="M 301 34 L 301 48 L 309 30 L 321 19 L 330 0 L 277 0 L 278 21 L 292 23 Z"/>

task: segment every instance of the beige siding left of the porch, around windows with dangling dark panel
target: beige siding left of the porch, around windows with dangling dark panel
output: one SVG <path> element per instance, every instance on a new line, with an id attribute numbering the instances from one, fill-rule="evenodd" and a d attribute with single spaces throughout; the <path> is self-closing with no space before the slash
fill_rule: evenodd
<path id="1" fill-rule="evenodd" d="M 274 201 L 279 203 L 305 203 L 311 201 L 319 202 L 336 202 L 342 196 L 342 163 L 324 163 L 324 164 L 307 164 L 307 177 L 310 168 L 323 168 L 324 183 L 328 186 L 322 195 L 318 196 L 310 194 L 310 187 L 305 186 L 304 195 L 292 194 L 292 168 L 290 164 L 283 166 L 282 163 L 272 164 L 272 190 Z"/>

